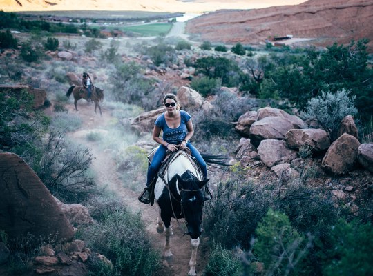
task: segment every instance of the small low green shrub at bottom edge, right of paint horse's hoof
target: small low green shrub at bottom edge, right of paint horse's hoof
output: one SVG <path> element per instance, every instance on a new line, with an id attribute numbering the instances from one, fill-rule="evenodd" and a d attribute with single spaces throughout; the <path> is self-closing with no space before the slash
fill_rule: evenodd
<path id="1" fill-rule="evenodd" d="M 220 244 L 213 244 L 209 262 L 204 269 L 205 276 L 235 276 L 239 275 L 240 260 L 224 249 Z"/>

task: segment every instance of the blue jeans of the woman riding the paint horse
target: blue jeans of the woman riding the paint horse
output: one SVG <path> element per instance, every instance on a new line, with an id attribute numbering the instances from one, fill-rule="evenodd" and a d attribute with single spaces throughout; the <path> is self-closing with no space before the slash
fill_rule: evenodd
<path id="1" fill-rule="evenodd" d="M 204 179 L 207 178 L 207 166 L 206 162 L 200 155 L 200 152 L 191 144 L 188 143 L 187 147 L 191 150 L 191 155 L 197 160 L 200 168 L 202 170 L 202 174 Z M 153 160 L 151 161 L 151 165 L 148 168 L 148 175 L 146 179 L 146 187 L 149 187 L 151 181 L 153 181 L 154 177 L 157 175 L 157 172 L 161 166 L 162 161 L 166 157 L 167 148 L 163 145 L 160 145 L 157 151 L 154 154 Z"/>

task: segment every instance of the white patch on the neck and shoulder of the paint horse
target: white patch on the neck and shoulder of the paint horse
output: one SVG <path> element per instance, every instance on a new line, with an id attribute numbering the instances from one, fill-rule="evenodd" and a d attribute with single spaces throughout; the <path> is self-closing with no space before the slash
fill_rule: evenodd
<path id="1" fill-rule="evenodd" d="M 193 175 L 198 177 L 198 179 L 202 180 L 202 175 L 200 175 L 193 166 L 193 164 L 191 164 L 190 159 L 187 157 L 187 153 L 180 152 L 169 164 L 169 168 L 167 168 L 166 173 L 164 175 L 164 180 L 166 182 L 169 182 L 175 175 L 182 175 L 187 170 L 190 170 L 193 173 Z M 158 177 L 154 189 L 154 195 L 156 200 L 158 200 L 162 195 L 164 186 L 164 182 L 162 181 L 162 179 L 160 179 L 160 177 Z M 180 194 L 179 189 L 178 194 Z"/>

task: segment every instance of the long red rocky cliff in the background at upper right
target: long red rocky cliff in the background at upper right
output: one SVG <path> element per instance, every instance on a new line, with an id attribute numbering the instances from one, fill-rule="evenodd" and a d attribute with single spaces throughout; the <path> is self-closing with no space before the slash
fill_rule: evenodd
<path id="1" fill-rule="evenodd" d="M 371 0 L 309 0 L 294 6 L 256 10 L 219 10 L 191 19 L 189 34 L 200 34 L 202 41 L 256 44 L 291 34 L 314 39 L 319 46 L 352 39 L 370 39 L 373 46 Z"/>

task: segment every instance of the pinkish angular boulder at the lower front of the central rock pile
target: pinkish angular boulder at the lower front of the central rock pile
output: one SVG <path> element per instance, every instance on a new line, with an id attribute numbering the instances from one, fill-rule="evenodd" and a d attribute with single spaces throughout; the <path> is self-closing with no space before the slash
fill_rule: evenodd
<path id="1" fill-rule="evenodd" d="M 297 157 L 296 151 L 287 148 L 285 141 L 276 139 L 261 141 L 258 146 L 258 155 L 260 160 L 268 167 L 286 163 Z"/>

